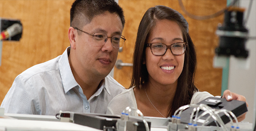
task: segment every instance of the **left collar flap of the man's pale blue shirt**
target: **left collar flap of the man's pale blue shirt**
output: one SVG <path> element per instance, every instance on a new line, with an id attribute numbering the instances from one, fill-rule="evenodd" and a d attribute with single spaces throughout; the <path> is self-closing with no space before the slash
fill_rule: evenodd
<path id="1" fill-rule="evenodd" d="M 67 93 L 73 87 L 79 86 L 76 80 L 74 79 L 71 67 L 69 65 L 69 53 L 70 47 L 67 47 L 67 49 L 64 51 L 64 53 L 61 55 L 61 58 L 59 59 L 59 69 L 65 93 Z"/>

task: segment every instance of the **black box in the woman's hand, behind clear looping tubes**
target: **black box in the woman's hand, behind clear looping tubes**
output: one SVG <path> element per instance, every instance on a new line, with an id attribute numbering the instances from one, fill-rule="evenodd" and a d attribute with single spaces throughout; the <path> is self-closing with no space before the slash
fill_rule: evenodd
<path id="1" fill-rule="evenodd" d="M 204 99 L 203 101 L 197 103 L 198 105 L 200 104 L 206 104 L 207 106 L 213 108 L 213 109 L 227 109 L 228 111 L 231 111 L 232 113 L 235 114 L 236 117 L 240 116 L 243 113 L 246 113 L 247 106 L 246 102 L 244 101 L 237 101 L 237 100 L 232 100 L 232 101 L 227 101 L 224 98 L 218 98 L 218 97 L 208 97 Z M 182 111 L 180 115 L 180 121 L 181 123 L 188 124 L 190 120 L 190 115 L 193 112 L 194 107 L 189 107 Z M 198 113 L 198 116 L 202 114 L 204 111 L 200 110 Z M 230 119 L 224 114 L 224 113 L 219 113 L 220 118 L 222 119 L 223 123 L 226 124 L 230 121 Z M 209 114 L 203 116 L 200 119 L 205 120 L 208 118 Z M 230 115 L 231 116 L 231 115 Z M 194 115 L 195 117 L 195 115 Z M 234 118 L 232 118 L 234 119 Z M 197 122 L 197 125 L 201 126 L 203 123 Z M 214 119 L 209 118 L 208 123 L 205 124 L 205 126 L 216 126 Z"/>

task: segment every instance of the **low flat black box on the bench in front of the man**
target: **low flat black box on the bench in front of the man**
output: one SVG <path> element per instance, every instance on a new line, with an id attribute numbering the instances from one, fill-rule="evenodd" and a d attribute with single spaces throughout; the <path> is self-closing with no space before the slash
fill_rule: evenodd
<path id="1" fill-rule="evenodd" d="M 74 113 L 73 122 L 104 131 L 115 131 L 118 119 L 121 119 L 119 115 Z M 132 121 L 138 123 L 137 131 L 146 130 L 142 120 L 133 118 Z M 150 122 L 148 122 L 148 124 L 150 128 Z"/>

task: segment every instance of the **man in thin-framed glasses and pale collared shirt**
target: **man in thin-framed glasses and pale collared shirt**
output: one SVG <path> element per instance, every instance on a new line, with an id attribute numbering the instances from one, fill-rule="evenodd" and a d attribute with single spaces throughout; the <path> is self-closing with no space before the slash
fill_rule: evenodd
<path id="1" fill-rule="evenodd" d="M 125 41 L 125 19 L 114 0 L 76 0 L 70 10 L 70 47 L 16 77 L 1 107 L 5 113 L 106 113 L 124 89 L 108 76 Z"/>

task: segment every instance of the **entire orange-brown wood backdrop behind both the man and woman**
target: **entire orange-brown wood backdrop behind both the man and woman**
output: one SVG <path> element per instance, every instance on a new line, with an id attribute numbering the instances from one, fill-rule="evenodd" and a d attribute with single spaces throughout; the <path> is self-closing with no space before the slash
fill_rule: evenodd
<path id="1" fill-rule="evenodd" d="M 23 34 L 19 42 L 3 41 L 0 66 L 0 103 L 15 77 L 31 66 L 61 55 L 69 46 L 69 10 L 73 0 L 0 0 L 0 17 L 19 19 Z M 209 15 L 221 10 L 226 0 L 183 0 L 185 8 L 195 15 Z M 209 20 L 193 20 L 178 5 L 178 0 L 119 0 L 125 12 L 123 35 L 127 41 L 118 59 L 131 63 L 139 22 L 145 11 L 155 5 L 166 5 L 181 12 L 189 22 L 192 40 L 197 48 L 195 84 L 201 91 L 220 95 L 221 69 L 212 67 L 218 37 L 214 34 L 223 15 Z M 125 87 L 130 85 L 131 67 L 115 68 L 114 78 Z"/>

